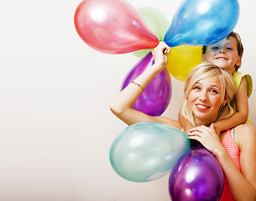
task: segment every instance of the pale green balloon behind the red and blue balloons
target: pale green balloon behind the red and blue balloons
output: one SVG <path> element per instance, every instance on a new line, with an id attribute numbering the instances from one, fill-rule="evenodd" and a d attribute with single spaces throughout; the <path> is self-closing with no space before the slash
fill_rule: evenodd
<path id="1" fill-rule="evenodd" d="M 144 21 L 147 23 L 150 30 L 157 36 L 159 41 L 164 41 L 165 33 L 170 27 L 168 18 L 156 8 L 141 7 L 138 8 L 138 12 L 141 13 Z M 138 56 L 138 58 L 144 58 L 150 51 L 151 49 L 141 49 L 133 52 L 133 54 Z"/>

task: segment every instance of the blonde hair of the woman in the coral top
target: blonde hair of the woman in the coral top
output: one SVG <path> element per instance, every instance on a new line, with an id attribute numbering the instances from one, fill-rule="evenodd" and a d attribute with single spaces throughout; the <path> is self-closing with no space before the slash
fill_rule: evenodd
<path id="1" fill-rule="evenodd" d="M 211 64 L 208 62 L 203 62 L 197 65 L 193 70 L 191 70 L 190 74 L 187 76 L 185 80 L 185 87 L 184 87 L 184 96 L 183 101 L 181 104 L 181 115 L 185 116 L 188 121 L 191 121 L 193 126 L 196 126 L 196 121 L 194 115 L 192 114 L 191 109 L 187 104 L 187 97 L 190 91 L 193 89 L 194 85 L 199 80 L 209 77 L 218 77 L 220 80 L 221 85 L 221 93 L 222 93 L 222 100 L 224 98 L 229 98 L 229 101 L 232 100 L 232 97 L 235 93 L 235 87 L 232 82 L 232 78 L 225 70 L 217 67 L 215 64 Z M 233 109 L 230 106 L 229 101 L 227 101 L 226 106 L 221 106 L 218 112 L 217 121 L 226 119 L 229 116 L 232 116 Z M 197 125 L 198 126 L 198 125 Z"/>

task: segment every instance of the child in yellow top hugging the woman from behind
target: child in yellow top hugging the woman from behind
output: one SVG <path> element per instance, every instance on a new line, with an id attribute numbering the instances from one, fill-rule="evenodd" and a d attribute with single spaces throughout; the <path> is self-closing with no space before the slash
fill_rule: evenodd
<path id="1" fill-rule="evenodd" d="M 202 61 L 211 62 L 222 70 L 226 70 L 232 76 L 236 87 L 236 94 L 230 102 L 234 109 L 234 115 L 214 124 L 217 133 L 239 124 L 251 124 L 248 116 L 248 97 L 252 93 L 253 82 L 250 75 L 238 72 L 242 56 L 243 44 L 240 36 L 235 32 L 230 33 L 226 39 L 222 39 L 217 44 L 204 46 L 202 49 Z M 184 116 L 179 115 L 179 121 L 186 133 L 193 127 L 190 122 L 185 120 Z"/>

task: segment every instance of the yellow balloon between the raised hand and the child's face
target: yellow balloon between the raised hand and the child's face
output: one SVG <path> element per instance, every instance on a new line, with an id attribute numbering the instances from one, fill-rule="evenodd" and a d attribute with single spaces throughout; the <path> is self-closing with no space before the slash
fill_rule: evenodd
<path id="1" fill-rule="evenodd" d="M 201 46 L 181 45 L 171 48 L 170 54 L 167 54 L 168 62 L 166 64 L 170 75 L 175 79 L 185 81 L 190 71 L 201 64 Z"/>

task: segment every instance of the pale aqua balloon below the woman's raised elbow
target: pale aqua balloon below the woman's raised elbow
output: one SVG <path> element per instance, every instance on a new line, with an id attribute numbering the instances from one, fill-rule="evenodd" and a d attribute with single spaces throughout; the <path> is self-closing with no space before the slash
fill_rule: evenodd
<path id="1" fill-rule="evenodd" d="M 139 122 L 121 131 L 109 152 L 112 168 L 133 182 L 163 177 L 190 147 L 185 132 L 158 122 Z"/>

